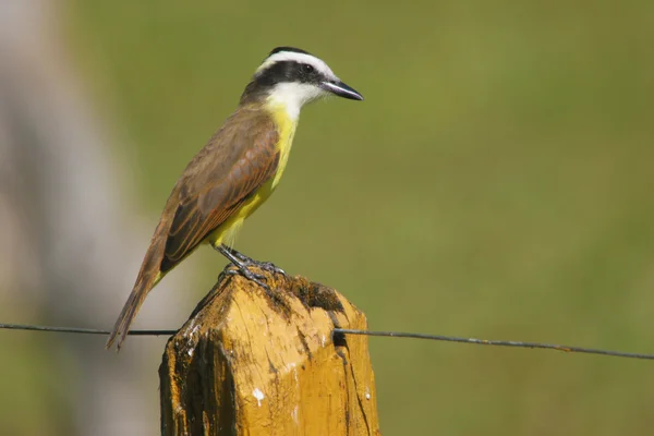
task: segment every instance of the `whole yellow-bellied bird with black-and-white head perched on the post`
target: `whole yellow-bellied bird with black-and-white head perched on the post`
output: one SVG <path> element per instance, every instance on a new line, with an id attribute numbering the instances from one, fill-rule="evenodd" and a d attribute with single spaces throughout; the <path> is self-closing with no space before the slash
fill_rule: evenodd
<path id="1" fill-rule="evenodd" d="M 120 349 L 148 292 L 202 243 L 211 244 L 239 274 L 267 288 L 247 267 L 281 270 L 257 263 L 231 245 L 245 218 L 277 187 L 300 109 L 329 95 L 363 100 L 315 56 L 292 47 L 270 51 L 245 87 L 234 113 L 174 184 L 107 348 L 120 337 Z"/>

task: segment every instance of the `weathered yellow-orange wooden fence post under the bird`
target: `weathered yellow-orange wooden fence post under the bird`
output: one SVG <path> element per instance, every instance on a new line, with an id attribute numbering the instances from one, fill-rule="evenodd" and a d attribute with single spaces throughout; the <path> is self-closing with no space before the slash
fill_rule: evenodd
<path id="1" fill-rule="evenodd" d="M 219 280 L 168 341 L 162 435 L 378 435 L 363 313 L 332 289 L 268 275 L 274 298 Z"/>

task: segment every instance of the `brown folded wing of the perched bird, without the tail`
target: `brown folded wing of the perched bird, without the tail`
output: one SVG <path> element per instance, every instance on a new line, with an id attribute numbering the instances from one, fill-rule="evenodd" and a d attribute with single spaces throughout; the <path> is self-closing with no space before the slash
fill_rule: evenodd
<path id="1" fill-rule="evenodd" d="M 173 195 L 178 192 L 177 208 L 166 239 L 162 272 L 189 255 L 275 174 L 277 141 L 277 129 L 267 114 L 242 109 L 189 164 L 173 191 Z"/>

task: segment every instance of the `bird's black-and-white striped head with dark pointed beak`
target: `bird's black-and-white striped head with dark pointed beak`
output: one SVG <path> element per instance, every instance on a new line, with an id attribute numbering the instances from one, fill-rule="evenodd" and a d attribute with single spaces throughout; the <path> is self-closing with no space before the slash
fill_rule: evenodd
<path id="1" fill-rule="evenodd" d="M 298 48 L 278 47 L 256 70 L 242 100 L 266 99 L 296 118 L 302 106 L 331 95 L 363 100 L 322 59 Z"/>

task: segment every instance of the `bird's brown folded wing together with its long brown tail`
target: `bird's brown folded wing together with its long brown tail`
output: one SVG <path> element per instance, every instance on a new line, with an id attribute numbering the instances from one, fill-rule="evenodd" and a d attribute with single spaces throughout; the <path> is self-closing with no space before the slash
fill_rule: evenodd
<path id="1" fill-rule="evenodd" d="M 193 158 L 168 197 L 107 348 L 117 338 L 120 348 L 161 272 L 189 255 L 275 174 L 279 161 L 277 141 L 272 120 L 256 107 L 243 107 Z"/>

